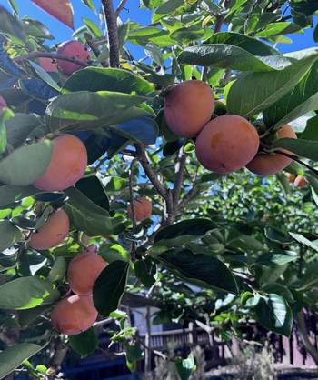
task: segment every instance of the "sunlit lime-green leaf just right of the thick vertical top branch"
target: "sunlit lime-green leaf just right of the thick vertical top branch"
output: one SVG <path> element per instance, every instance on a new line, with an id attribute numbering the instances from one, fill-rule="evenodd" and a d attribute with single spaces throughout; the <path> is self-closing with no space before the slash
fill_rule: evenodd
<path id="1" fill-rule="evenodd" d="M 149 41 L 159 47 L 174 45 L 175 41 L 170 38 L 168 30 L 160 29 L 155 26 L 138 26 L 129 31 L 128 41 L 134 45 L 145 46 Z"/>

